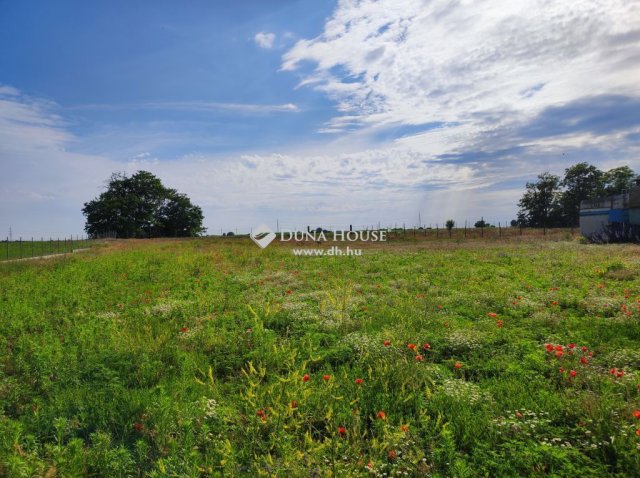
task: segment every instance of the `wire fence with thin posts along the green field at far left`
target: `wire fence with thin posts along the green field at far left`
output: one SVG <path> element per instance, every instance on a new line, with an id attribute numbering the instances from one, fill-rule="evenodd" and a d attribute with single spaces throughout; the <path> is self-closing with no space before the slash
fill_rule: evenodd
<path id="1" fill-rule="evenodd" d="M 91 247 L 92 240 L 87 236 L 70 236 L 65 238 L 40 239 L 29 238 L 10 240 L 8 237 L 0 242 L 0 261 L 17 259 L 29 259 L 51 256 L 57 254 L 69 254 L 78 249 Z"/>

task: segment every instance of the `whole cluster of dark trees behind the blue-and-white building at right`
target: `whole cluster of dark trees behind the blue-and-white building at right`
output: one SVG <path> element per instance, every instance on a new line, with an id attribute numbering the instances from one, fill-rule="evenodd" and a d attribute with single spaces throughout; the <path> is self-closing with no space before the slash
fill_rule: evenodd
<path id="1" fill-rule="evenodd" d="M 528 182 L 518 202 L 512 225 L 525 227 L 575 227 L 580 223 L 580 202 L 629 191 L 640 176 L 629 166 L 601 171 L 582 162 L 565 169 L 561 178 L 544 172 Z"/>

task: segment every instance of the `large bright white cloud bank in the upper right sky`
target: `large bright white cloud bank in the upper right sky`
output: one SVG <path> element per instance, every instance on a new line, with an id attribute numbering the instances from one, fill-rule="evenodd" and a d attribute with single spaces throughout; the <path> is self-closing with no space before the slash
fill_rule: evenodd
<path id="1" fill-rule="evenodd" d="M 446 122 L 484 131 L 558 102 L 640 93 L 638 7 L 343 0 L 323 34 L 298 41 L 282 68 L 301 70 L 301 85 L 364 126 Z"/>

